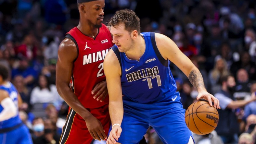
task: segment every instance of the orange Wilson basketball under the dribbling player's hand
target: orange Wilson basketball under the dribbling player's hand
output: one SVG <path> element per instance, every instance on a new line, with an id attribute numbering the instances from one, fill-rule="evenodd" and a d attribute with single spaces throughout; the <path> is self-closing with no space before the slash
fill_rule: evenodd
<path id="1" fill-rule="evenodd" d="M 185 121 L 188 129 L 198 135 L 211 133 L 219 122 L 219 113 L 207 101 L 192 103 L 186 110 Z"/>

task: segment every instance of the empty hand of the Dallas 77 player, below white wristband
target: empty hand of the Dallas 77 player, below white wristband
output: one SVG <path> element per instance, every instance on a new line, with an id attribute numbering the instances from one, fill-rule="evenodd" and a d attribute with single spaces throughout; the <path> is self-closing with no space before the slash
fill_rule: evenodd
<path id="1" fill-rule="evenodd" d="M 115 144 L 120 138 L 122 128 L 120 126 L 114 126 L 109 132 L 109 138 L 107 139 L 107 144 Z"/>

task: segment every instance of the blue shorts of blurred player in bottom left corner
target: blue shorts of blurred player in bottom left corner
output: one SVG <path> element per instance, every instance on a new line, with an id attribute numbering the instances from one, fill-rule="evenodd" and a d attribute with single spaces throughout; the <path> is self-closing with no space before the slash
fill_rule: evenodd
<path id="1" fill-rule="evenodd" d="M 22 125 L 12 131 L 0 133 L 1 144 L 32 144 L 32 138 L 27 126 Z"/>

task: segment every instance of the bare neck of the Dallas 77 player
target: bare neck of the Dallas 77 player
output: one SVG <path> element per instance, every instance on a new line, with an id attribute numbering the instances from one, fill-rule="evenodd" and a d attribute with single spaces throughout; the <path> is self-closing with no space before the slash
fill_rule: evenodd
<path id="1" fill-rule="evenodd" d="M 135 40 L 134 45 L 131 47 L 131 50 L 125 52 L 126 56 L 129 59 L 139 61 L 140 57 L 145 53 L 146 44 L 143 36 L 138 37 Z"/>

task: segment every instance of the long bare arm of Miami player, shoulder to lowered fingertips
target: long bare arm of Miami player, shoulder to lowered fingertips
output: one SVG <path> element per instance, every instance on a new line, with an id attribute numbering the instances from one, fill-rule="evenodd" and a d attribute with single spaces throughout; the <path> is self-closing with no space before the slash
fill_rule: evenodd
<path id="1" fill-rule="evenodd" d="M 77 48 L 75 43 L 65 38 L 59 45 L 58 61 L 56 65 L 56 87 L 59 95 L 67 104 L 86 122 L 86 126 L 94 139 L 106 139 L 103 127 L 98 119 L 94 117 L 77 96 L 70 89 L 69 83 L 72 76 L 73 62 L 77 58 Z"/>

